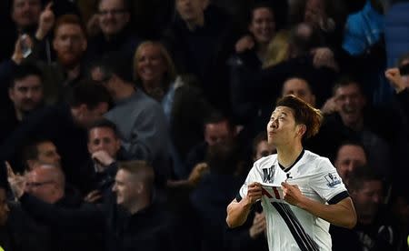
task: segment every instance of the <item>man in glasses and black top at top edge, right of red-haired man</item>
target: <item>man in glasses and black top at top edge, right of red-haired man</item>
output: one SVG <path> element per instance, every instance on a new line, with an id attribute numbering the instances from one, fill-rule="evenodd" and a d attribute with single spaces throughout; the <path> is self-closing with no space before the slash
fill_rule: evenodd
<path id="1" fill-rule="evenodd" d="M 90 22 L 94 22 L 95 34 L 89 41 L 88 53 L 91 58 L 98 58 L 108 52 L 120 51 L 133 55 L 141 39 L 130 27 L 131 14 L 126 0 L 99 0 L 97 13 Z M 89 33 L 95 33 L 88 23 Z"/>

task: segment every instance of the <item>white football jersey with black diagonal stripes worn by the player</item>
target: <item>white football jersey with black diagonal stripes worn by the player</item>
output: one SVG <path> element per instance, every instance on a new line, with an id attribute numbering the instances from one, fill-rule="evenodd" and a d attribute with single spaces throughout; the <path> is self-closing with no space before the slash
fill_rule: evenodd
<path id="1" fill-rule="evenodd" d="M 293 166 L 285 171 L 278 165 L 277 155 L 257 160 L 240 188 L 237 200 L 247 195 L 247 186 L 253 182 L 281 186 L 285 180 L 290 185 L 297 185 L 304 196 L 323 204 L 336 204 L 349 196 L 328 158 L 303 150 Z M 330 224 L 324 219 L 266 196 L 263 196 L 262 205 L 269 250 L 331 250 Z"/>

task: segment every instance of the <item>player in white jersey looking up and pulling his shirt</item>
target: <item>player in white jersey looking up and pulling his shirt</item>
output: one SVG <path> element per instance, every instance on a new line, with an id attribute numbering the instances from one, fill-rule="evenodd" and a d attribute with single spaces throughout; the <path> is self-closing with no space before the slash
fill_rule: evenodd
<path id="1" fill-rule="evenodd" d="M 244 224 L 263 196 L 261 183 L 282 186 L 284 200 L 262 200 L 270 250 L 331 250 L 330 223 L 352 228 L 354 205 L 327 158 L 304 150 L 303 138 L 321 126 L 319 110 L 294 95 L 278 100 L 267 125 L 277 154 L 254 163 L 237 197 L 227 206 L 229 227 Z"/>

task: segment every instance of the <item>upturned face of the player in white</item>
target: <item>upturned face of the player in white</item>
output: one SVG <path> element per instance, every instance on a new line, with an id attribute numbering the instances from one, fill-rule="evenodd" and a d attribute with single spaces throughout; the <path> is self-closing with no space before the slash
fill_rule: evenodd
<path id="1" fill-rule="evenodd" d="M 293 109 L 277 106 L 267 124 L 268 143 L 275 147 L 293 145 L 298 127 L 295 124 Z"/>

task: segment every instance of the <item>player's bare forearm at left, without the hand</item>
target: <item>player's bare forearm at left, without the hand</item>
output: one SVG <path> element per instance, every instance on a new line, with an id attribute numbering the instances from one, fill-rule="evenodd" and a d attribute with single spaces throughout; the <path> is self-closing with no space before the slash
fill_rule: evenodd
<path id="1" fill-rule="evenodd" d="M 237 202 L 235 199 L 227 206 L 227 218 L 225 219 L 227 226 L 234 228 L 242 226 L 250 213 L 252 204 L 246 199 Z"/>

